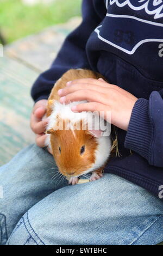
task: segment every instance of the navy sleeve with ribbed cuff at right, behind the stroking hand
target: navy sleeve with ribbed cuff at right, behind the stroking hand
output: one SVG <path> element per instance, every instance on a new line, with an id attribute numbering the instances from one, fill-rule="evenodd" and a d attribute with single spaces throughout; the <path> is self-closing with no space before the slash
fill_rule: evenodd
<path id="1" fill-rule="evenodd" d="M 136 101 L 124 145 L 152 166 L 163 167 L 163 90 Z"/>

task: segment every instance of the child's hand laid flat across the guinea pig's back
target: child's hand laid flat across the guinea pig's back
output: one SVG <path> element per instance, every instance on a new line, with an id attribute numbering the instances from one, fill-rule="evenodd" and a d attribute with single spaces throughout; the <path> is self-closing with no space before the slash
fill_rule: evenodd
<path id="1" fill-rule="evenodd" d="M 111 111 L 111 124 L 123 130 L 128 129 L 131 112 L 137 98 L 126 90 L 93 78 L 84 78 L 67 83 L 67 87 L 60 89 L 61 103 L 86 100 L 72 107 L 72 111 Z"/>

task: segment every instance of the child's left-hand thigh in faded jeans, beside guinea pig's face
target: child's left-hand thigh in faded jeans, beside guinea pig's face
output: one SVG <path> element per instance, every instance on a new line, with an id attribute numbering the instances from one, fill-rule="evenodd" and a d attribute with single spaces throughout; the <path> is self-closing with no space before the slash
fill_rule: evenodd
<path id="1" fill-rule="evenodd" d="M 67 185 L 66 180 L 55 184 L 52 178 L 57 169 L 53 167 L 56 168 L 53 157 L 35 144 L 24 148 L 0 167 L 0 186 L 3 188 L 0 214 L 6 219 L 8 235 L 28 209 L 56 188 Z"/>

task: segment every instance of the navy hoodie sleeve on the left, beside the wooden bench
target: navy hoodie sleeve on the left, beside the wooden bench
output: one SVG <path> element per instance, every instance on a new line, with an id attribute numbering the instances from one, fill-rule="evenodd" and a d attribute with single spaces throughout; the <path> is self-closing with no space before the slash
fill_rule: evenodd
<path id="1" fill-rule="evenodd" d="M 83 0 L 82 17 L 82 23 L 67 36 L 51 68 L 43 72 L 33 84 L 31 95 L 35 102 L 48 99 L 55 81 L 68 69 L 90 68 L 85 51 L 86 42 L 101 22 L 94 8 L 94 0 Z"/>

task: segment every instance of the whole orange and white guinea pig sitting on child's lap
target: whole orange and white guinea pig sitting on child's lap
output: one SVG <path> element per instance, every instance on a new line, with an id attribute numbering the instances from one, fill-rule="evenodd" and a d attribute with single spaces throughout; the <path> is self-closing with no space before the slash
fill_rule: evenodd
<path id="1" fill-rule="evenodd" d="M 48 99 L 46 117 L 49 117 L 49 123 L 46 143 L 54 156 L 59 172 L 65 175 L 73 185 L 78 182 L 78 176 L 86 173 L 92 173 L 90 181 L 102 177 L 103 168 L 111 151 L 111 139 L 110 136 L 103 136 L 103 130 L 89 129 L 89 122 L 93 118 L 96 119 L 93 113 L 71 111 L 73 105 L 86 101 L 61 104 L 58 90 L 66 87 L 68 81 L 100 77 L 103 78 L 102 75 L 91 70 L 68 70 L 54 84 Z M 110 124 L 102 117 L 98 117 L 98 122 L 100 125 L 105 123 L 109 129 Z M 84 129 L 81 129 L 83 128 L 81 124 L 85 125 Z M 80 127 L 80 129 L 74 129 L 74 127 Z"/>

